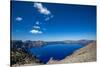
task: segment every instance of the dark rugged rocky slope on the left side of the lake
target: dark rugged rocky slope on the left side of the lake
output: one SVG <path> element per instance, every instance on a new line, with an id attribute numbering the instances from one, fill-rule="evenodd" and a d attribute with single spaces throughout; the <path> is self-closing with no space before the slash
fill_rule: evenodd
<path id="1" fill-rule="evenodd" d="M 37 57 L 30 52 L 28 49 L 33 47 L 32 41 L 22 42 L 21 40 L 11 41 L 11 67 L 19 67 L 25 64 L 43 64 Z M 37 42 L 41 44 L 42 42 Z M 37 45 L 40 47 L 40 45 Z M 36 47 L 37 47 L 36 46 Z"/>

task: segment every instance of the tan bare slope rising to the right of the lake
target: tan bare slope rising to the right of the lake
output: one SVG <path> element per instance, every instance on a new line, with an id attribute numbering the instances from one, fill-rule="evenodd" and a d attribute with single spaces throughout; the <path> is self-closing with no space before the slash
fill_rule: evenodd
<path id="1" fill-rule="evenodd" d="M 96 42 L 92 42 L 87 46 L 75 51 L 72 55 L 66 57 L 63 60 L 56 61 L 51 58 L 47 64 L 78 63 L 92 61 L 96 61 Z"/>

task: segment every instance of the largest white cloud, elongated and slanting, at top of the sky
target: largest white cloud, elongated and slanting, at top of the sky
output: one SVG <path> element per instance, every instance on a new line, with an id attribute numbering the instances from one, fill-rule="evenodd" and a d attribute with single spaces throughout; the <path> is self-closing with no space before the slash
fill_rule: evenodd
<path id="1" fill-rule="evenodd" d="M 42 3 L 34 3 L 34 7 L 38 9 L 41 14 L 50 15 L 51 12 L 42 5 Z"/>

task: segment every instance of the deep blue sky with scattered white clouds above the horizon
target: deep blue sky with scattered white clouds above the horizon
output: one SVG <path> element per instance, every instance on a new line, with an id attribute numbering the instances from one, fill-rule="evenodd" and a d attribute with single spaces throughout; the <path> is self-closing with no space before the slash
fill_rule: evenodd
<path id="1" fill-rule="evenodd" d="M 13 40 L 96 39 L 96 6 L 11 1 Z"/>

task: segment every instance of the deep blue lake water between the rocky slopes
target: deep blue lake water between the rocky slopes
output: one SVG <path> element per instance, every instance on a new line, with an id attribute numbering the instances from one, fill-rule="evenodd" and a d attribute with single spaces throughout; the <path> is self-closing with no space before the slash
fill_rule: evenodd
<path id="1" fill-rule="evenodd" d="M 81 44 L 49 44 L 30 48 L 29 51 L 43 63 L 47 63 L 51 57 L 54 60 L 62 60 L 81 47 Z"/>

